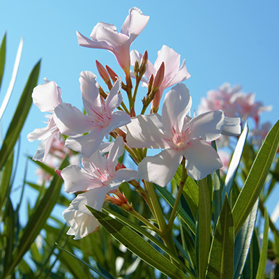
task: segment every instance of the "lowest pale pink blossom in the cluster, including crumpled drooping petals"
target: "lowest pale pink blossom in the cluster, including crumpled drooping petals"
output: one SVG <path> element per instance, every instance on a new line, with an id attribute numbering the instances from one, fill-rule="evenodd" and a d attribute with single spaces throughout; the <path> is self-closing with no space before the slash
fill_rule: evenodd
<path id="1" fill-rule="evenodd" d="M 114 191 L 125 181 L 137 179 L 135 170 L 117 167 L 117 158 L 123 154 L 123 148 L 123 138 L 116 137 L 107 157 L 102 156 L 98 150 L 90 158 L 82 158 L 83 167 L 70 165 L 62 170 L 66 193 L 86 191 L 77 195 L 68 209 L 63 211 L 63 217 L 70 225 L 67 234 L 75 235 L 75 239 L 80 239 L 99 227 L 98 221 L 85 205 L 100 211 L 107 193 Z"/>

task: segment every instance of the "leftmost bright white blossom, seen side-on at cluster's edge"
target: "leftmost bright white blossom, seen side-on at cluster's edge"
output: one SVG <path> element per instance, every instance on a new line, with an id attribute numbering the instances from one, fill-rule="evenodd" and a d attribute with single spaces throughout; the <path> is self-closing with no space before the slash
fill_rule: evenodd
<path id="1" fill-rule="evenodd" d="M 32 133 L 27 135 L 29 142 L 33 140 L 45 140 L 45 146 L 36 151 L 33 160 L 44 161 L 50 151 L 52 141 L 59 136 L 59 129 L 54 122 L 54 108 L 62 104 L 61 89 L 55 82 L 50 82 L 45 79 L 45 84 L 40 84 L 33 89 L 33 103 L 40 109 L 41 112 L 50 112 L 46 117 L 47 127 L 37 128 Z"/>

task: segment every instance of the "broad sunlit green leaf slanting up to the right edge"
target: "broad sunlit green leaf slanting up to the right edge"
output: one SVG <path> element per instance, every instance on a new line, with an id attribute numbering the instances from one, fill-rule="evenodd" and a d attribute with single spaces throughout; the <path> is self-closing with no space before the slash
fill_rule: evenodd
<path id="1" fill-rule="evenodd" d="M 257 153 L 257 157 L 252 164 L 246 182 L 239 194 L 232 214 L 234 216 L 234 228 L 237 234 L 243 223 L 246 221 L 252 207 L 254 206 L 259 194 L 264 187 L 264 181 L 273 162 L 273 158 L 278 150 L 279 143 L 279 120 L 271 128 L 266 136 L 261 149 Z"/>

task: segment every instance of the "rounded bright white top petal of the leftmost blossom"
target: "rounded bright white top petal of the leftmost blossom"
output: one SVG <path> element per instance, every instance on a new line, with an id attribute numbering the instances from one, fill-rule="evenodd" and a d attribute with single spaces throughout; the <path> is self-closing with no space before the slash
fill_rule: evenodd
<path id="1" fill-rule="evenodd" d="M 32 98 L 41 112 L 53 112 L 54 107 L 62 103 L 61 89 L 55 82 L 45 82 L 36 86 Z"/>

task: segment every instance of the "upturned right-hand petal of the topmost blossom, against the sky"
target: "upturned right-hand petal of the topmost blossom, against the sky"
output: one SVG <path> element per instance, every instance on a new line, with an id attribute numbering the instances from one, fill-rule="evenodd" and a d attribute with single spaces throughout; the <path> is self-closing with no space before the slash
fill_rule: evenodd
<path id="1" fill-rule="evenodd" d="M 121 33 L 130 37 L 130 43 L 132 43 L 140 32 L 142 32 L 144 27 L 146 27 L 148 21 L 149 16 L 143 15 L 139 8 L 130 8 L 129 15 L 126 17 L 126 20 L 122 25 Z"/>

